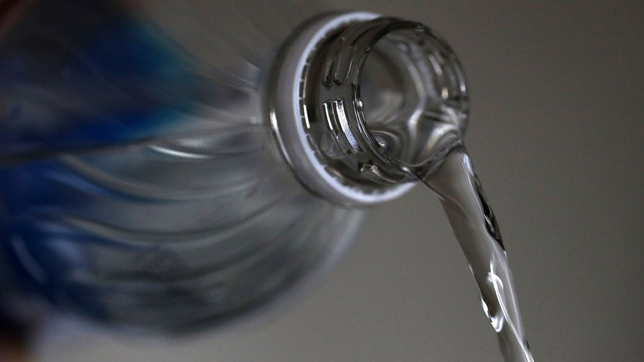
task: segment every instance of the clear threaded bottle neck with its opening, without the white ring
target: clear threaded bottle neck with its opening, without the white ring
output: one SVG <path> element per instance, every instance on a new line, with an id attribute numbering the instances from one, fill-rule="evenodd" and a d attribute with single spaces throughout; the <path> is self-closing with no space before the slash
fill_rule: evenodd
<path id="1" fill-rule="evenodd" d="M 426 26 L 395 18 L 351 23 L 321 47 L 307 75 L 312 133 L 329 162 L 357 180 L 415 180 L 459 142 L 468 101 L 451 48 Z M 315 137 L 314 137 L 315 138 Z"/>

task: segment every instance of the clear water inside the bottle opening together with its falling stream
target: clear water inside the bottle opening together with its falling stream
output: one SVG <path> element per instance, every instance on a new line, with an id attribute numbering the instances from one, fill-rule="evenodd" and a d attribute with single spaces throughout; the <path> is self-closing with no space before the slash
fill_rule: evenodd
<path id="1" fill-rule="evenodd" d="M 360 85 L 381 165 L 413 173 L 438 194 L 504 359 L 533 361 L 500 230 L 464 147 L 468 92 L 453 51 L 432 30 L 392 31 L 372 46 Z"/>

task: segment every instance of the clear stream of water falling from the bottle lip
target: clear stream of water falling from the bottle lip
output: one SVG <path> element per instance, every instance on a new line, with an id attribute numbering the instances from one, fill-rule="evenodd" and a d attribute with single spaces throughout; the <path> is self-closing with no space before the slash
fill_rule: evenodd
<path id="1" fill-rule="evenodd" d="M 464 147 L 448 153 L 437 170 L 418 177 L 442 202 L 505 361 L 533 361 L 500 230 Z"/>

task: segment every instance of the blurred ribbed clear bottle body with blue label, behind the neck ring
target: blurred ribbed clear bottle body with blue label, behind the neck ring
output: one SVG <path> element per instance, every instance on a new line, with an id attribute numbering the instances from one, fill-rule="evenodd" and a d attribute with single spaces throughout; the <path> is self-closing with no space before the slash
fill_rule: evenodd
<path id="1" fill-rule="evenodd" d="M 352 238 L 362 211 L 296 180 L 265 104 L 279 48 L 320 9 L 17 8 L 0 28 L 4 301 L 182 330 L 272 301 Z"/>

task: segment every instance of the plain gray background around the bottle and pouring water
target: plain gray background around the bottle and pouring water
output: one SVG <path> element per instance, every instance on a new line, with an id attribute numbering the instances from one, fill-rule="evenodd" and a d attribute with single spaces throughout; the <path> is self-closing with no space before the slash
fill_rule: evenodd
<path id="1" fill-rule="evenodd" d="M 644 354 L 641 2 L 352 1 L 460 55 L 466 141 L 500 221 L 538 361 Z M 64 328 L 63 328 L 64 329 Z M 180 342 L 45 332 L 41 361 L 499 361 L 437 198 L 375 210 L 341 265 L 268 321 Z"/>

